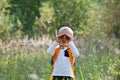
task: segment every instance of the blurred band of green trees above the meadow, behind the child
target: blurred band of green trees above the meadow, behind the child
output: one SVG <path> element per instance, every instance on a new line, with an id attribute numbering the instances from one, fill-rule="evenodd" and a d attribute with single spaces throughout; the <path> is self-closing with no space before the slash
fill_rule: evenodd
<path id="1" fill-rule="evenodd" d="M 69 26 L 78 37 L 105 38 L 114 34 L 119 38 L 119 3 L 119 0 L 2 0 L 0 35 L 6 38 L 56 35 L 61 26 Z"/>

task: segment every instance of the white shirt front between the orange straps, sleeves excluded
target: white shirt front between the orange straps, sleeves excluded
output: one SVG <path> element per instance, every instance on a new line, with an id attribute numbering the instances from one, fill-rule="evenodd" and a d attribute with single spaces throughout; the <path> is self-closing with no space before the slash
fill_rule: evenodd
<path id="1" fill-rule="evenodd" d="M 68 56 L 65 56 L 65 50 L 60 49 L 58 57 L 54 63 L 54 70 L 52 73 L 52 76 L 70 76 L 74 77 L 72 72 L 72 67 L 70 63 L 70 58 Z"/>

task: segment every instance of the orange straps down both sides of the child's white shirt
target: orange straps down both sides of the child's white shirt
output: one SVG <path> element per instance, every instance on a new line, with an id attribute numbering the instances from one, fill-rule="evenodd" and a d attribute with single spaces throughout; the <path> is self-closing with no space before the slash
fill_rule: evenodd
<path id="1" fill-rule="evenodd" d="M 60 51 L 60 46 L 57 46 L 57 48 L 55 50 L 55 53 L 52 56 L 52 71 L 54 69 L 54 63 L 55 63 L 55 61 L 56 61 L 56 59 L 58 57 L 59 51 Z M 73 71 L 73 74 L 74 74 L 75 57 L 72 56 L 72 50 L 70 48 L 68 48 L 67 51 L 68 51 L 68 55 L 69 55 L 69 58 L 70 58 L 70 62 L 71 62 L 71 66 L 72 66 L 72 71 Z M 52 75 L 50 76 L 50 80 L 52 80 Z M 74 76 L 73 80 L 76 80 L 75 76 Z"/>

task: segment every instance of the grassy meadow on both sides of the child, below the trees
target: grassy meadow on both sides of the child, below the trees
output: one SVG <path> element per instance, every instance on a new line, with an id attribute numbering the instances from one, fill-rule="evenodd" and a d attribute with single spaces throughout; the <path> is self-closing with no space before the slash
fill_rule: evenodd
<path id="1" fill-rule="evenodd" d="M 51 74 L 50 58 L 46 48 L 47 36 L 38 39 L 14 39 L 0 46 L 0 79 L 31 80 L 31 76 L 48 80 Z M 26 43 L 25 43 L 26 42 Z M 30 42 L 30 43 L 29 43 Z M 115 50 L 118 40 L 75 40 L 80 52 L 76 58 L 77 80 L 117 80 L 120 74 L 120 51 Z M 3 50 L 3 51 L 2 51 Z"/>

